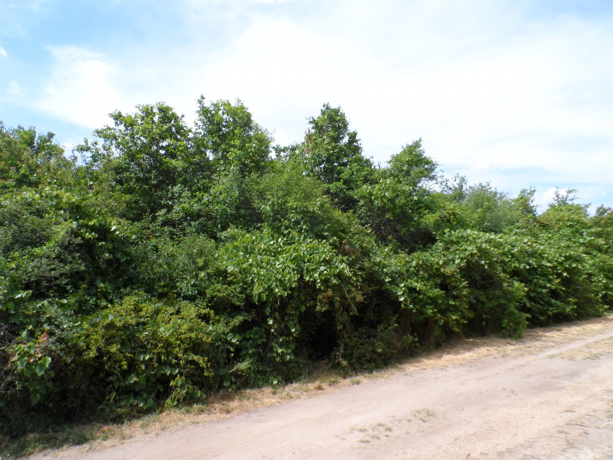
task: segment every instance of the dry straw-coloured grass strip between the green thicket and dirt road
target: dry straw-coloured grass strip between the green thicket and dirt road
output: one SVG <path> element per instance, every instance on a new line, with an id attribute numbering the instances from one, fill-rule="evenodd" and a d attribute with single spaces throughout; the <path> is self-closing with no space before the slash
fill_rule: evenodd
<path id="1" fill-rule="evenodd" d="M 538 355 L 551 348 L 561 347 L 569 342 L 588 339 L 613 332 L 613 315 L 587 321 L 557 325 L 551 328 L 530 329 L 520 340 L 501 339 L 500 337 L 479 337 L 476 339 L 457 339 L 447 343 L 432 353 L 408 359 L 395 366 L 373 373 L 341 377 L 326 366 L 319 366 L 305 381 L 292 383 L 281 388 L 260 388 L 229 393 L 227 391 L 212 395 L 206 404 L 167 410 L 139 420 L 124 424 L 107 424 L 88 427 L 89 439 L 93 442 L 83 446 L 83 450 L 98 449 L 123 443 L 133 437 L 151 437 L 166 431 L 175 431 L 189 425 L 199 425 L 223 420 L 237 413 L 258 410 L 287 401 L 305 399 L 338 391 L 340 388 L 367 383 L 379 378 L 387 378 L 398 372 L 410 373 L 422 369 L 442 369 L 476 361 L 486 356 Z M 563 352 L 560 357 L 568 359 L 593 358 L 599 353 L 611 353 L 613 339 L 592 342 L 577 350 Z M 565 353 L 569 353 L 568 356 Z M 574 354 L 573 354 L 574 353 Z M 557 356 L 557 355 L 555 355 Z M 430 418 L 430 414 L 419 414 Z M 417 415 L 416 415 L 417 416 Z M 367 442 L 367 440 L 364 440 Z M 370 442 L 370 440 L 368 440 Z"/>

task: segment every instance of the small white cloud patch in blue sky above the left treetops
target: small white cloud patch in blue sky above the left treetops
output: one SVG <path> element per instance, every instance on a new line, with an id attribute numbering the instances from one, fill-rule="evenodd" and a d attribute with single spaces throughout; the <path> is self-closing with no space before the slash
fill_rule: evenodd
<path id="1" fill-rule="evenodd" d="M 101 56 L 76 47 L 49 50 L 56 63 L 36 102 L 39 110 L 77 125 L 98 128 L 109 121 L 109 112 L 125 108 L 113 81 L 115 71 Z"/>

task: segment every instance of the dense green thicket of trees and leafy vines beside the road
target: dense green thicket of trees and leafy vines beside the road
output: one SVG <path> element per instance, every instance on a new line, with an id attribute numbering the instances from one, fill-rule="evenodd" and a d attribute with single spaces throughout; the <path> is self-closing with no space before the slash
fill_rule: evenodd
<path id="1" fill-rule="evenodd" d="M 351 372 L 613 302 L 613 212 L 384 166 L 324 105 L 289 147 L 242 102 L 112 113 L 72 156 L 0 125 L 0 434 Z"/>

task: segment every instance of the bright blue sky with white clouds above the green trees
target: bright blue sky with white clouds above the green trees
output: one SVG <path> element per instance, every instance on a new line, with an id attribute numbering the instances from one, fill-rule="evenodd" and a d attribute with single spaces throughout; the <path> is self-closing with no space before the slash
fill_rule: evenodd
<path id="1" fill-rule="evenodd" d="M 382 164 L 613 207 L 611 0 L 0 0 L 0 120 L 67 149 L 113 110 L 241 99 L 280 145 L 340 105 Z M 543 208 L 542 208 L 543 209 Z"/>

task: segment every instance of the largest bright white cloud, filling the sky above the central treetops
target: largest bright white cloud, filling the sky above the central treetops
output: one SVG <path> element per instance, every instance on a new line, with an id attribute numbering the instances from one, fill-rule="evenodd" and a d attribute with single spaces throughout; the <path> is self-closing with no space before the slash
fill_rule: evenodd
<path id="1" fill-rule="evenodd" d="M 500 37 L 485 15 L 493 7 L 461 2 L 450 17 L 443 3 L 338 2 L 314 21 L 256 15 L 217 53 L 191 48 L 181 75 L 155 73 L 174 80 L 169 99 L 186 109 L 200 92 L 242 98 L 282 143 L 302 136 L 322 102 L 340 104 L 380 160 L 421 136 L 449 167 L 568 171 L 576 139 L 611 140 L 607 30 L 562 18 Z M 579 148 L 587 163 L 603 155 Z"/>

